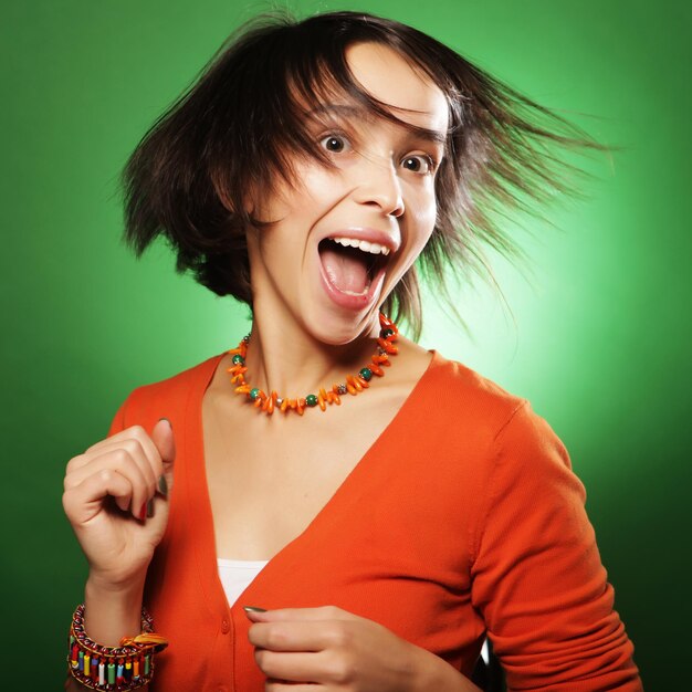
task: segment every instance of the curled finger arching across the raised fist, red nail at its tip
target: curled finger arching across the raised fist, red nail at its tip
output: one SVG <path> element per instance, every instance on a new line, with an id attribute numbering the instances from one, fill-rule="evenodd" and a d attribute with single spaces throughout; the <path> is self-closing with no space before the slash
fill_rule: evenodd
<path id="1" fill-rule="evenodd" d="M 129 510 L 135 517 L 145 518 L 147 502 L 156 492 L 156 481 L 148 462 L 141 459 L 141 455 L 138 460 L 133 459 L 129 452 L 124 449 L 105 452 L 103 455 L 93 459 L 87 465 L 65 476 L 65 490 L 78 487 L 87 479 L 98 476 L 104 471 L 117 472 L 129 481 Z M 124 504 L 123 497 L 118 497 L 116 504 L 124 512 L 128 510 L 128 505 Z"/>

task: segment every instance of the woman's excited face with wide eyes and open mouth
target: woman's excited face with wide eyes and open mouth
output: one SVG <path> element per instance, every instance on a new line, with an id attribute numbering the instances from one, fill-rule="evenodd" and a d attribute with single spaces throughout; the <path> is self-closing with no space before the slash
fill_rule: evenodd
<path id="1" fill-rule="evenodd" d="M 428 242 L 449 117 L 442 91 L 392 50 L 360 43 L 346 59 L 369 94 L 430 135 L 335 98 L 308 119 L 334 167 L 301 158 L 294 186 L 256 200 L 254 212 L 273 223 L 248 233 L 255 314 L 327 344 L 371 331 Z"/>

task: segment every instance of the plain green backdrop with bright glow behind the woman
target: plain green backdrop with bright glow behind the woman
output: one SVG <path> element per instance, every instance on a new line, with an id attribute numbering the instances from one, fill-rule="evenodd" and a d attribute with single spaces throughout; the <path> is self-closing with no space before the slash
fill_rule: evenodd
<path id="1" fill-rule="evenodd" d="M 176 275 L 162 244 L 140 262 L 126 252 L 115 182 L 226 35 L 269 7 L 34 0 L 2 10 L 1 578 L 4 637 L 15 642 L 3 658 L 23 669 L 20 678 L 6 665 L 6 689 L 12 680 L 62 689 L 64 633 L 85 575 L 62 514 L 66 461 L 104 437 L 135 386 L 231 347 L 248 328 L 245 310 Z M 548 419 L 587 486 L 647 690 L 686 689 L 689 6 L 289 7 L 411 23 L 623 147 L 588 162 L 588 198 L 556 205 L 557 229 L 514 224 L 527 268 L 491 258 L 511 313 L 482 284 L 464 287 L 458 307 L 472 336 L 428 301 L 421 343 Z M 21 651 L 40 652 L 40 665 L 25 668 Z"/>

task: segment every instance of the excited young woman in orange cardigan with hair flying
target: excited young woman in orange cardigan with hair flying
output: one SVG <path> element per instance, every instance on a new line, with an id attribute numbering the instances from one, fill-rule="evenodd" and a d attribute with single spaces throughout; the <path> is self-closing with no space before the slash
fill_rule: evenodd
<path id="1" fill-rule="evenodd" d="M 589 141 L 349 12 L 245 30 L 158 120 L 126 238 L 162 234 L 252 329 L 69 462 L 70 689 L 461 692 L 486 636 L 510 689 L 641 689 L 559 440 L 396 324 L 419 332 L 417 268 L 443 287 L 511 244 L 494 208 L 562 189 L 554 145 Z M 118 648 L 143 605 L 165 650 Z"/>

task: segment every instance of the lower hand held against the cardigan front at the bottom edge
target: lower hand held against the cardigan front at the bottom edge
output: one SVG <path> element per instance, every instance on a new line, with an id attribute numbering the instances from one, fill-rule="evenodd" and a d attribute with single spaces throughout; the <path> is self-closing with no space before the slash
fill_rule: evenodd
<path id="1" fill-rule="evenodd" d="M 422 686 L 427 668 L 451 669 L 378 622 L 334 606 L 247 612 L 266 692 L 413 692 L 430 689 Z"/>

